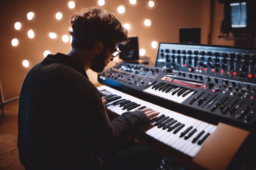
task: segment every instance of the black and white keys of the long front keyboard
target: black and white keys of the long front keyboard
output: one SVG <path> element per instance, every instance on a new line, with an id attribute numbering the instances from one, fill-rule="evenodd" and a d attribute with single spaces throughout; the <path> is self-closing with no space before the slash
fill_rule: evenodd
<path id="1" fill-rule="evenodd" d="M 216 129 L 215 125 L 165 109 L 113 88 L 100 86 L 98 89 L 103 94 L 107 93 L 121 96 L 120 99 L 105 105 L 107 109 L 119 115 L 125 111 L 133 111 L 141 107 L 159 111 L 160 114 L 157 117 L 161 119 L 157 119 L 157 121 L 153 122 L 152 125 L 154 127 L 147 130 L 145 133 L 191 157 L 194 157 L 198 153 L 204 142 Z M 126 107 L 128 104 L 130 104 L 130 106 Z M 129 108 L 132 109 L 129 110 Z"/>

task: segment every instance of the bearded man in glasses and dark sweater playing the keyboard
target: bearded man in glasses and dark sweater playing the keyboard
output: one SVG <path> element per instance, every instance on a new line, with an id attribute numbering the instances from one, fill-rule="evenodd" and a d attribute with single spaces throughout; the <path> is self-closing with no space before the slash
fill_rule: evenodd
<path id="1" fill-rule="evenodd" d="M 90 8 L 71 18 L 72 50 L 48 55 L 24 79 L 18 110 L 20 162 L 29 169 L 97 169 L 129 132 L 159 112 L 125 112 L 109 121 L 86 71 L 103 71 L 128 41 L 113 14 Z"/>

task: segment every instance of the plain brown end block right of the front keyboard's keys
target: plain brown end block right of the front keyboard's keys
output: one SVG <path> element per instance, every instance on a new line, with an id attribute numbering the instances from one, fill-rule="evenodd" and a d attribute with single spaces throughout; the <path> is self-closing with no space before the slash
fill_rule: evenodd
<path id="1" fill-rule="evenodd" d="M 224 170 L 249 133 L 248 130 L 219 123 L 192 161 L 205 169 Z"/>

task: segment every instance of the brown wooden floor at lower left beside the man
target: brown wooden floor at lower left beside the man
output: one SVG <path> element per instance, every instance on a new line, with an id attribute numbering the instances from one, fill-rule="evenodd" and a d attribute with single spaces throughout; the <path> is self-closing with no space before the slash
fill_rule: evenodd
<path id="1" fill-rule="evenodd" d="M 18 100 L 5 105 L 5 117 L 0 120 L 0 169 L 24 170 L 17 148 Z"/>

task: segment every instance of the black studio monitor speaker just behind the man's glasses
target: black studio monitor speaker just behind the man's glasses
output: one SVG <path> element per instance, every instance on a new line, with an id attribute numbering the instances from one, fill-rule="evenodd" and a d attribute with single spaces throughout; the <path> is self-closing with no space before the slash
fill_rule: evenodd
<path id="1" fill-rule="evenodd" d="M 119 58 L 123 61 L 133 61 L 139 59 L 138 37 L 130 37 L 130 42 L 126 45 L 118 44 L 121 51 Z"/>

